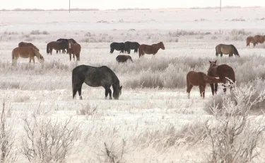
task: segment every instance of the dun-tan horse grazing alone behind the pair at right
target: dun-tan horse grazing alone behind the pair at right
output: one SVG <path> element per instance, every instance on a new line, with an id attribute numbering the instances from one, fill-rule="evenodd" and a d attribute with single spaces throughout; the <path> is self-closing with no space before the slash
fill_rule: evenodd
<path id="1" fill-rule="evenodd" d="M 237 51 L 237 48 L 235 48 L 234 45 L 225 45 L 225 44 L 219 44 L 216 46 L 216 57 L 220 54 L 220 57 L 223 57 L 224 55 L 229 55 L 229 57 L 232 57 L 233 54 L 240 57 L 240 54 Z"/>

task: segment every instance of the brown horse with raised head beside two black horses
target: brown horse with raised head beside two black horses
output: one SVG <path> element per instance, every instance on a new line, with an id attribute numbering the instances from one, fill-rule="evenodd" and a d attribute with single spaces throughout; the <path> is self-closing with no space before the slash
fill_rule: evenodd
<path id="1" fill-rule="evenodd" d="M 163 42 L 153 44 L 153 45 L 142 44 L 139 46 L 139 57 L 141 57 L 144 54 L 155 55 L 160 48 L 162 50 L 165 50 L 165 46 L 164 46 Z"/>

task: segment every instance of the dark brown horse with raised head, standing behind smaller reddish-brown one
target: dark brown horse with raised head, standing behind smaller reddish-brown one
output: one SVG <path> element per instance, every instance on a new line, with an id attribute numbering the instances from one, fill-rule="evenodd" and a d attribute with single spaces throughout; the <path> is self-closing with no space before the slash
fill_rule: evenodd
<path id="1" fill-rule="evenodd" d="M 230 90 L 234 88 L 235 86 L 235 72 L 232 67 L 228 66 L 228 64 L 221 64 L 217 65 L 216 61 L 210 62 L 210 67 L 208 69 L 208 76 L 210 77 L 219 77 L 220 82 L 223 83 L 223 91 L 226 92 L 226 86 L 225 83 L 228 80 L 229 81 L 229 87 Z M 218 91 L 218 84 L 210 84 L 211 85 L 211 92 L 214 95 Z"/>

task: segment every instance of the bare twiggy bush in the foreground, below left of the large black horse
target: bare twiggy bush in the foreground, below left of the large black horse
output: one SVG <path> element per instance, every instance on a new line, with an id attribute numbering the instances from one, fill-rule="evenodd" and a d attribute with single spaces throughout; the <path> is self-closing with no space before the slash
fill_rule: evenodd
<path id="1" fill-rule="evenodd" d="M 73 146 L 78 130 L 70 128 L 71 119 L 65 123 L 52 123 L 51 119 L 33 121 L 23 119 L 26 136 L 22 139 L 20 153 L 30 162 L 64 162 Z"/>

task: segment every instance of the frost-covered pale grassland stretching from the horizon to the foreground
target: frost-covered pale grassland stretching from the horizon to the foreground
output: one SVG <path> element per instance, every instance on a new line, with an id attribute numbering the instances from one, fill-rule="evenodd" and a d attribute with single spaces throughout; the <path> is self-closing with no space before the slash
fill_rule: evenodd
<path id="1" fill-rule="evenodd" d="M 223 94 L 219 84 L 218 94 L 212 96 L 207 84 L 205 99 L 198 86 L 188 99 L 186 74 L 192 70 L 207 74 L 209 60 L 228 64 L 235 71 L 236 88 L 246 92 L 236 94 L 237 99 L 257 97 L 262 109 L 265 44 L 247 47 L 246 38 L 265 35 L 264 12 L 263 8 L 1 11 L 1 122 L 6 121 L 1 132 L 8 129 L 4 135 L 11 135 L 8 144 L 1 139 L 3 133 L 0 136 L 1 147 L 10 149 L 6 162 L 209 162 L 211 134 L 201 135 L 197 129 L 215 117 L 208 112 L 210 103 L 232 95 Z M 79 62 L 54 50 L 47 55 L 47 43 L 59 38 L 73 38 L 81 45 Z M 140 59 L 131 50 L 134 62 L 118 64 L 119 52 L 110 54 L 110 43 L 127 40 L 150 45 L 163 41 L 165 50 Z M 11 64 L 12 50 L 21 41 L 38 47 L 45 62 L 35 58 L 35 64 L 29 64 L 19 58 Z M 220 43 L 235 45 L 240 57 L 216 57 Z M 105 89 L 86 84 L 83 100 L 73 99 L 72 69 L 81 64 L 110 67 L 123 86 L 119 100 L 105 100 Z M 251 113 L 254 119 L 263 119 L 262 115 Z M 264 125 L 261 120 L 259 126 Z M 264 156 L 261 144 L 257 142 L 257 153 Z M 247 160 L 264 162 L 260 155 Z"/>

